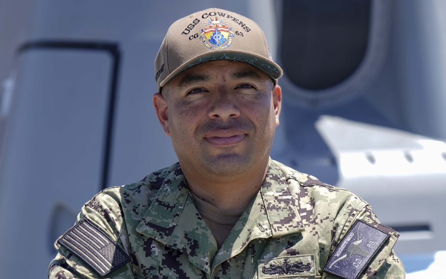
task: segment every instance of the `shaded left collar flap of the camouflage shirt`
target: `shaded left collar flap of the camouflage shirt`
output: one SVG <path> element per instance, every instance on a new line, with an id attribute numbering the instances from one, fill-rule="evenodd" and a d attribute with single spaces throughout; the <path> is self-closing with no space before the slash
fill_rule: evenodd
<path id="1" fill-rule="evenodd" d="M 178 163 L 164 180 L 136 231 L 181 251 L 192 264 L 210 273 L 217 243 L 193 204 Z"/>

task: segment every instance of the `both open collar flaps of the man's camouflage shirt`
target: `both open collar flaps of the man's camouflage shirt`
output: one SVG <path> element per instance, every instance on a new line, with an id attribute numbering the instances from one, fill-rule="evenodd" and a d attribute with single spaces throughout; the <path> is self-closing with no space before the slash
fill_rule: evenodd
<path id="1" fill-rule="evenodd" d="M 296 203 L 287 176 L 270 158 L 259 193 L 217 251 L 215 238 L 195 208 L 177 163 L 136 231 L 180 250 L 195 266 L 211 274 L 217 265 L 243 251 L 253 239 L 303 231 Z"/>

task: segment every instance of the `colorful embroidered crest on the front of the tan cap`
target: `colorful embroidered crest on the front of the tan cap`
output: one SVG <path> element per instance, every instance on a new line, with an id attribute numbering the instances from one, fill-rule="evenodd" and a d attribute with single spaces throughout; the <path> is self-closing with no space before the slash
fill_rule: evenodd
<path id="1" fill-rule="evenodd" d="M 211 50 L 223 50 L 232 43 L 235 37 L 232 28 L 224 26 L 223 17 L 211 17 L 204 29 L 201 29 L 200 39 Z"/>

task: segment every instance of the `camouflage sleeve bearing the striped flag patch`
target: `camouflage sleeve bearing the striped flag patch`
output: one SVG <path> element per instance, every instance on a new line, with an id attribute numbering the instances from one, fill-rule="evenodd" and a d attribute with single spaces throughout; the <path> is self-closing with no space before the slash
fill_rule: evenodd
<path id="1" fill-rule="evenodd" d="M 119 250 L 118 253 L 120 253 L 121 258 L 128 259 L 127 247 L 125 247 L 127 241 L 124 237 L 127 233 L 122 220 L 121 209 L 116 198 L 106 195 L 104 192 L 95 196 L 83 206 L 76 224 L 56 240 L 57 255 L 50 263 L 48 278 L 133 279 L 130 263 L 121 264 L 118 268 L 113 269 L 113 265 L 116 266 L 116 260 L 113 259 L 116 258 L 116 250 Z M 88 226 L 81 227 L 83 224 L 88 224 Z M 73 230 L 76 226 L 79 231 Z M 66 236 L 67 234 L 70 235 Z M 94 240 L 95 236 L 97 237 L 96 240 Z M 63 241 L 67 237 L 73 240 L 74 251 L 67 249 L 70 248 L 69 245 L 68 247 L 65 246 Z M 83 241 L 84 239 L 86 241 Z M 88 243 L 88 241 L 90 242 Z M 99 243 L 98 247 L 100 248 L 95 247 L 96 243 L 92 241 Z M 76 247 L 79 247 L 79 249 L 76 249 Z M 107 269 L 112 271 L 105 276 L 101 276 L 95 270 L 95 267 L 96 269 L 99 267 L 103 273 L 107 273 Z"/>

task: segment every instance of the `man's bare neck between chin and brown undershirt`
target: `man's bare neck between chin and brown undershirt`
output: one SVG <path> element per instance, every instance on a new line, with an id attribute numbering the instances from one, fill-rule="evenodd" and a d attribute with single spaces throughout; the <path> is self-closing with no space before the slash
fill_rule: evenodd
<path id="1" fill-rule="evenodd" d="M 221 210 L 244 210 L 259 192 L 268 166 L 240 177 L 216 177 L 184 173 L 190 191 Z"/>

